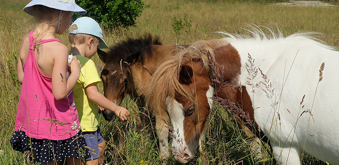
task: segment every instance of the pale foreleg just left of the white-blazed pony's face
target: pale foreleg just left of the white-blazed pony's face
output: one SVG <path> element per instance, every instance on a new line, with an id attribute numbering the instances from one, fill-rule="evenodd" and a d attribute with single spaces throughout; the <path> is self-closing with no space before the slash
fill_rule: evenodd
<path id="1" fill-rule="evenodd" d="M 159 140 L 159 155 L 162 160 L 166 160 L 170 157 L 168 120 L 169 116 L 166 112 L 155 115 L 155 129 Z"/>

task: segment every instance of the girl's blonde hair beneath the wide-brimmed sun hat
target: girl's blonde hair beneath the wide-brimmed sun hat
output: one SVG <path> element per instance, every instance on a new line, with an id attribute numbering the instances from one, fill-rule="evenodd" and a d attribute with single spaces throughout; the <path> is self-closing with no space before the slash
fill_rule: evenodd
<path id="1" fill-rule="evenodd" d="M 74 12 L 69 11 L 62 11 L 65 14 L 62 15 L 60 18 L 60 24 L 62 24 L 64 21 L 66 21 L 69 17 L 73 16 Z M 36 35 L 34 38 L 39 38 L 41 36 L 44 36 L 47 31 L 49 30 L 49 26 L 55 26 L 59 23 L 59 15 L 60 10 L 53 9 L 50 7 L 46 7 L 44 5 L 34 5 L 32 6 L 32 16 L 33 19 L 31 20 L 32 27 L 31 29 L 35 29 Z M 37 28 L 39 27 L 39 28 Z"/>

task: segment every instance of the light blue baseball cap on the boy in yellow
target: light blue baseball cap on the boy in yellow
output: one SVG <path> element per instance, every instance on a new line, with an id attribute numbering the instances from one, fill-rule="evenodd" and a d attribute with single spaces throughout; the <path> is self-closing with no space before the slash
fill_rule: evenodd
<path id="1" fill-rule="evenodd" d="M 75 20 L 72 23 L 72 25 L 77 25 L 77 29 L 73 31 L 68 31 L 69 33 L 71 34 L 83 33 L 83 34 L 91 34 L 91 35 L 97 36 L 101 39 L 98 49 L 108 48 L 102 36 L 102 29 L 100 28 L 100 25 L 94 19 L 87 17 L 87 16 L 82 16 L 82 17 L 77 18 L 77 20 Z"/>

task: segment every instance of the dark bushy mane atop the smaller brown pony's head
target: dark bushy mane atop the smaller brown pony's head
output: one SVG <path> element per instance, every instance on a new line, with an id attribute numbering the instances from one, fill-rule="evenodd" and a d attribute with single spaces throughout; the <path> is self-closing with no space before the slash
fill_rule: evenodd
<path id="1" fill-rule="evenodd" d="M 120 63 L 121 59 L 125 59 L 139 51 L 139 58 L 141 63 L 143 63 L 144 59 L 147 58 L 146 56 L 153 56 L 152 45 L 163 45 L 159 36 L 145 34 L 139 38 L 129 37 L 110 47 L 106 59 L 107 61 Z"/>

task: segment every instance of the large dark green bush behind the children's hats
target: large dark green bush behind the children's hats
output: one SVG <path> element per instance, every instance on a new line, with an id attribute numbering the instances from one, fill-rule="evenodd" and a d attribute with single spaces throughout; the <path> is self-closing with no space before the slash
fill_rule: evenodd
<path id="1" fill-rule="evenodd" d="M 76 0 L 76 3 L 87 11 L 85 16 L 108 29 L 135 26 L 136 18 L 145 7 L 141 0 Z M 73 16 L 74 20 L 78 17 L 81 17 L 78 13 Z"/>

